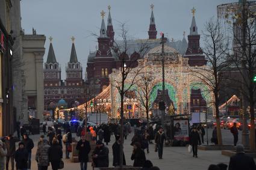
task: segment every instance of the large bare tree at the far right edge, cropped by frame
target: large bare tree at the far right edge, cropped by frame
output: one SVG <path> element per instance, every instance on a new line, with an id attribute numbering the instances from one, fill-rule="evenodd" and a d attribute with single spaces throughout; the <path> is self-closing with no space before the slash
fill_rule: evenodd
<path id="1" fill-rule="evenodd" d="M 253 6 L 254 5 L 254 6 Z M 233 24 L 233 51 L 229 55 L 231 65 L 239 71 L 234 82 L 240 85 L 240 93 L 243 96 L 243 110 L 246 114 L 245 100 L 249 103 L 251 117 L 250 149 L 255 150 L 255 103 L 256 103 L 256 8 L 255 2 L 243 1 Z M 240 76 L 240 77 L 239 77 Z M 239 79 L 240 78 L 240 79 Z"/>

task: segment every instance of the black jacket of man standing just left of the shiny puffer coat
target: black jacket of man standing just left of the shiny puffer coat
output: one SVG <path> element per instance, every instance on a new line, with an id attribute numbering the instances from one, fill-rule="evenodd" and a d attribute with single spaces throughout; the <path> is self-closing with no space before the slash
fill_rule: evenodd
<path id="1" fill-rule="evenodd" d="M 84 145 L 83 147 L 81 147 L 82 144 Z M 78 143 L 76 145 L 76 150 L 79 151 L 79 153 L 78 153 L 79 162 L 88 162 L 89 161 L 88 154 L 90 153 L 91 147 L 90 147 L 90 143 L 88 141 L 84 140 L 84 142 L 83 142 L 82 139 L 80 141 L 78 141 Z"/>

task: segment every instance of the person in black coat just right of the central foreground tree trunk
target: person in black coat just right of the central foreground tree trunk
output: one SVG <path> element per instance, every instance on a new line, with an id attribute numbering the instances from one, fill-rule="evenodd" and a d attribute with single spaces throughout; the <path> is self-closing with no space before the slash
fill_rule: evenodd
<path id="1" fill-rule="evenodd" d="M 142 167 L 146 161 L 145 152 L 140 147 L 139 142 L 135 142 L 133 145 L 133 154 L 131 154 L 131 160 L 134 160 L 134 167 Z"/>

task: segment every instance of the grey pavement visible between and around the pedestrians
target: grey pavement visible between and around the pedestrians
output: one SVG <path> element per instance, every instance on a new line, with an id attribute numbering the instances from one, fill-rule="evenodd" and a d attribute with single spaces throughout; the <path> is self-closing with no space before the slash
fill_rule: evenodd
<path id="1" fill-rule="evenodd" d="M 75 136 L 75 134 L 72 134 Z M 30 138 L 33 139 L 35 147 L 32 151 L 32 165 L 31 169 L 36 170 L 37 164 L 35 160 L 36 149 L 37 149 L 37 142 L 39 141 L 40 135 L 31 135 Z M 133 165 L 133 161 L 131 160 L 131 153 L 133 151 L 133 147 L 131 147 L 131 138 L 133 135 L 129 135 L 128 139 L 125 140 L 124 151 L 125 151 L 125 159 L 127 165 Z M 111 136 L 111 142 L 107 146 L 110 150 L 109 159 L 110 159 L 110 166 L 112 167 L 113 163 L 113 155 L 112 155 L 112 144 L 114 142 L 114 136 Z M 197 169 L 197 170 L 205 170 L 208 169 L 210 164 L 217 164 L 217 163 L 226 163 L 229 162 L 229 157 L 222 156 L 220 151 L 198 151 L 198 158 L 192 157 L 192 154 L 187 152 L 187 147 L 164 147 L 163 151 L 163 159 L 158 159 L 158 154 L 154 152 L 154 144 L 149 145 L 149 154 L 146 154 L 146 159 L 152 161 L 155 166 L 158 166 L 161 170 L 167 169 Z M 63 150 L 63 157 L 64 157 L 65 150 Z M 63 159 L 64 160 L 64 170 L 69 169 L 80 169 L 79 163 L 72 163 L 70 159 Z M 48 167 L 51 169 L 51 165 Z M 92 169 L 91 163 L 88 163 L 88 170 Z"/>

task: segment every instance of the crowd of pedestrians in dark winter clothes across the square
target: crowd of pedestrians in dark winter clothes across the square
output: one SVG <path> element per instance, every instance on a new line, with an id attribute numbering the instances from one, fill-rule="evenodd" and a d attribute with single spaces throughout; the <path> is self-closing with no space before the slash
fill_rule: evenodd
<path id="1" fill-rule="evenodd" d="M 72 138 L 71 127 L 68 123 L 63 124 L 64 132 L 58 126 L 48 127 L 47 124 L 43 125 L 43 135 L 37 143 L 36 162 L 39 170 L 48 169 L 51 164 L 53 170 L 61 169 L 64 166 L 63 162 L 63 145 L 65 149 L 65 158 L 69 159 L 70 151 L 72 151 Z M 236 130 L 231 130 L 235 133 Z M 92 160 L 92 166 L 95 168 L 110 166 L 109 149 L 107 145 L 110 143 L 111 135 L 114 135 L 114 143 L 111 146 L 113 153 L 113 166 L 126 165 L 125 154 L 120 154 L 122 150 L 122 141 L 131 135 L 132 129 L 130 123 L 125 123 L 123 126 L 123 140 L 121 140 L 121 127 L 120 124 L 101 124 L 98 127 L 90 127 L 85 125 L 78 125 L 75 127 L 78 142 L 76 150 L 78 150 L 78 160 L 80 162 L 81 170 L 87 169 L 87 163 Z M 216 129 L 213 130 L 213 136 L 216 135 Z M 34 142 L 29 137 L 26 131 L 20 132 L 22 140 L 14 138 L 13 135 L 8 135 L 0 140 L 0 170 L 9 169 L 9 162 L 11 162 L 11 170 L 14 170 L 14 162 L 16 162 L 16 169 L 31 169 L 31 150 L 34 148 Z M 217 136 L 217 135 L 216 135 Z M 46 139 L 48 137 L 48 139 Z M 193 157 L 198 157 L 198 145 L 204 142 L 204 127 L 201 125 L 193 126 L 189 136 L 189 144 L 192 145 Z M 131 146 L 133 152 L 131 160 L 133 160 L 134 167 L 142 167 L 144 170 L 159 169 L 153 166 L 152 162 L 146 159 L 146 153 L 149 153 L 149 144 L 154 144 L 155 152 L 158 152 L 158 158 L 163 159 L 163 147 L 166 135 L 163 127 L 148 126 L 136 127 L 134 129 L 134 136 L 131 139 Z M 234 136 L 234 142 L 236 141 Z M 16 150 L 16 142 L 19 142 Z M 92 150 L 92 143 L 96 147 Z M 104 144 L 105 143 L 105 144 Z M 220 163 L 218 165 L 210 165 L 209 170 L 227 169 L 256 169 L 254 159 L 245 154 L 242 145 L 237 145 L 236 156 L 231 157 L 229 165 Z M 90 154 L 91 153 L 91 154 Z M 91 157 L 89 157 L 89 155 Z M 122 157 L 122 159 L 120 159 Z M 120 161 L 122 160 L 122 161 Z M 246 168 L 245 168 L 246 167 Z"/>

